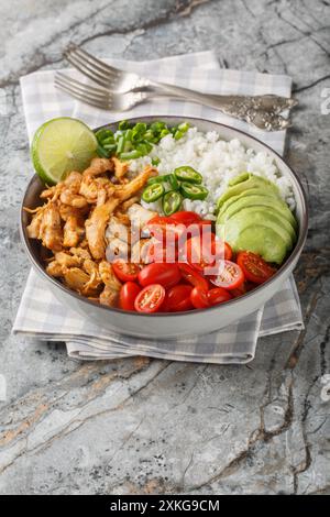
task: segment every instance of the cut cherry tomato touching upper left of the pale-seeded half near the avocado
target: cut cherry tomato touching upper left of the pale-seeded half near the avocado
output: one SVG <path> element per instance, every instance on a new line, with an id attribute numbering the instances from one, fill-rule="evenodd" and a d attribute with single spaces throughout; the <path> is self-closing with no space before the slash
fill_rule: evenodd
<path id="1" fill-rule="evenodd" d="M 187 260 L 198 271 L 211 266 L 216 262 L 216 235 L 207 233 L 188 239 L 186 244 Z"/>

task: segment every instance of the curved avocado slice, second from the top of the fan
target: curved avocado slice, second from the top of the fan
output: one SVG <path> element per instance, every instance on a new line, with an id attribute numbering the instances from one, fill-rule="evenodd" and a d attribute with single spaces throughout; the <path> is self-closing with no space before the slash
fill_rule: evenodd
<path id="1" fill-rule="evenodd" d="M 256 191 L 258 194 L 252 195 L 252 191 Z M 251 189 L 248 190 L 246 195 L 241 194 L 240 196 L 234 196 L 228 199 L 222 206 L 217 221 L 222 223 L 227 221 L 227 219 L 231 218 L 234 213 L 246 207 L 255 207 L 256 209 L 260 209 L 261 207 L 268 207 L 270 209 L 273 209 L 280 218 L 285 219 L 289 223 L 295 238 L 297 222 L 290 209 L 282 199 L 274 196 L 268 196 L 261 189 Z"/>

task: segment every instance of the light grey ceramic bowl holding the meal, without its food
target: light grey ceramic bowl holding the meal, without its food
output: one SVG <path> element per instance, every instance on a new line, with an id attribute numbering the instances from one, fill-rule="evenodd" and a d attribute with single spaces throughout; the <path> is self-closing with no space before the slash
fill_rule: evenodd
<path id="1" fill-rule="evenodd" d="M 307 237 L 308 208 L 306 195 L 297 175 L 277 153 L 258 140 L 227 125 L 195 118 L 158 116 L 132 119 L 132 121 L 153 122 L 160 119 L 169 125 L 177 124 L 185 119 L 201 131 L 217 131 L 221 139 L 239 139 L 246 147 L 266 151 L 274 158 L 280 174 L 290 179 L 297 204 L 296 217 L 299 222 L 299 235 L 292 254 L 268 282 L 240 298 L 209 309 L 152 315 L 125 312 L 90 301 L 65 287 L 58 279 L 47 275 L 40 256 L 40 243 L 28 237 L 29 215 L 23 209 L 21 210 L 21 237 L 34 270 L 45 280 L 45 286 L 52 289 L 56 298 L 68 309 L 76 310 L 81 315 L 81 318 L 90 318 L 95 323 L 110 331 L 150 339 L 174 339 L 183 336 L 204 334 L 227 327 L 253 312 L 272 298 L 292 274 L 299 260 Z M 109 124 L 109 128 L 116 130 L 117 123 Z M 43 188 L 40 178 L 36 175 L 33 176 L 26 188 L 22 207 L 35 208 L 40 205 L 38 195 Z"/>

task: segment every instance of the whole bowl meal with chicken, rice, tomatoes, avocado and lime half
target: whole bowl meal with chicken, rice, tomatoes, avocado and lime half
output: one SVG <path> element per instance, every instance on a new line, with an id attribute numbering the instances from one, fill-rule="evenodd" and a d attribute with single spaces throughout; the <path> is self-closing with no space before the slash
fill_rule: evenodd
<path id="1" fill-rule="evenodd" d="M 307 206 L 285 162 L 243 132 L 145 118 L 35 133 L 22 237 L 62 301 L 102 327 L 174 338 L 270 299 L 304 246 Z"/>

